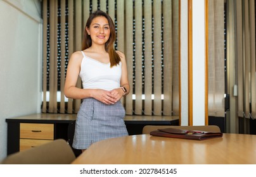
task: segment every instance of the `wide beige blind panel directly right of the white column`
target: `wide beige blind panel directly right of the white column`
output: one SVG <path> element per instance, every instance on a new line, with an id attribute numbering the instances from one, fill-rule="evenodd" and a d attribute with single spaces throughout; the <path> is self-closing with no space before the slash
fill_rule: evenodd
<path id="1" fill-rule="evenodd" d="M 208 116 L 224 117 L 224 0 L 208 0 Z"/>

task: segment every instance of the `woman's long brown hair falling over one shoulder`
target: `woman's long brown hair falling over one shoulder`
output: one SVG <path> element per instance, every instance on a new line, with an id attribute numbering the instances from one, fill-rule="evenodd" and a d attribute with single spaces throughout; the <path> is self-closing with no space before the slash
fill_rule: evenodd
<path id="1" fill-rule="evenodd" d="M 113 44 L 116 39 L 116 34 L 115 34 L 115 25 L 112 21 L 112 18 L 107 13 L 101 10 L 94 11 L 89 16 L 86 22 L 86 27 L 89 28 L 93 19 L 98 16 L 105 16 L 105 18 L 108 20 L 108 24 L 110 25 L 110 38 L 105 43 L 105 50 L 106 52 L 108 52 L 108 55 L 110 56 L 110 67 L 117 66 L 117 64 L 119 64 L 120 62 L 120 56 L 117 54 L 117 52 L 115 52 L 115 49 L 113 48 Z M 82 50 L 85 50 L 91 47 L 92 45 L 91 36 L 87 34 L 86 27 L 84 28 L 84 39 L 82 42 Z"/>

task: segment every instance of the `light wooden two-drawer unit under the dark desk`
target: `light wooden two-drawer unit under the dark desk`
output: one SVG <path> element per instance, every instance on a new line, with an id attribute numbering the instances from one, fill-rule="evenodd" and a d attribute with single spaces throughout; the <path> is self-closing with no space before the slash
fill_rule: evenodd
<path id="1" fill-rule="evenodd" d="M 20 123 L 20 151 L 54 140 L 54 124 Z"/>

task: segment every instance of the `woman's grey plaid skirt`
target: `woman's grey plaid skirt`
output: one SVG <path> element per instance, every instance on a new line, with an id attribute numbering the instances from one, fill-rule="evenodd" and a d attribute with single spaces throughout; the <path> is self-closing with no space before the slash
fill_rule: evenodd
<path id="1" fill-rule="evenodd" d="M 120 101 L 107 105 L 93 98 L 84 99 L 77 113 L 72 147 L 87 149 L 100 140 L 127 136 L 124 116 Z"/>

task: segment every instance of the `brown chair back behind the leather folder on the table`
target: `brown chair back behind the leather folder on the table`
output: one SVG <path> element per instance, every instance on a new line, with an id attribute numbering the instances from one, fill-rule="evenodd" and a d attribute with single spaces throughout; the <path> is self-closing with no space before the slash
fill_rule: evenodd
<path id="1" fill-rule="evenodd" d="M 151 131 L 158 130 L 160 128 L 179 128 L 183 130 L 200 130 L 200 131 L 214 131 L 221 132 L 221 129 L 217 125 L 205 125 L 205 126 L 176 126 L 176 125 L 146 125 L 143 127 L 143 134 L 150 134 Z"/>

